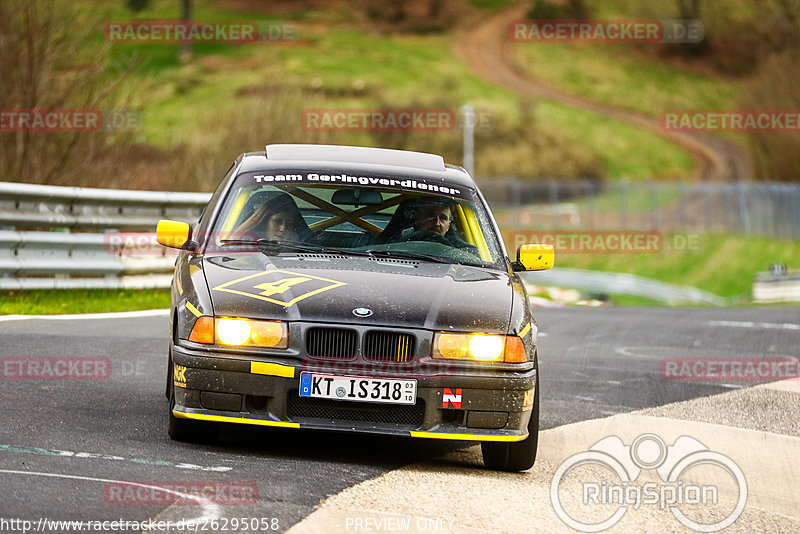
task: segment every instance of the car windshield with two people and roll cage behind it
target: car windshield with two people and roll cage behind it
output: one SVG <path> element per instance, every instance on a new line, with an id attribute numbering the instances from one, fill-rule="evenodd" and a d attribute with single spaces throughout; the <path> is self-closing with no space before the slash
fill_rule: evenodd
<path id="1" fill-rule="evenodd" d="M 258 178 L 252 173 L 237 177 L 207 250 L 213 243 L 223 252 L 312 251 L 503 265 L 493 226 L 471 190 L 434 186 L 437 193 L 431 193 L 361 184 L 264 183 Z M 375 181 L 394 184 L 413 179 Z"/>

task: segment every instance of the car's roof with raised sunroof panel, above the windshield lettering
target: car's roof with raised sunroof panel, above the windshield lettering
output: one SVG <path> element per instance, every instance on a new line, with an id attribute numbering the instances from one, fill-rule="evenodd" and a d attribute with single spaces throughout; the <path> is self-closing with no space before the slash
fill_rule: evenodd
<path id="1" fill-rule="evenodd" d="M 347 172 L 360 175 L 424 178 L 428 182 L 475 189 L 463 168 L 444 163 L 440 156 L 408 150 L 338 145 L 267 145 L 264 152 L 237 158 L 239 172 L 296 170 Z"/>

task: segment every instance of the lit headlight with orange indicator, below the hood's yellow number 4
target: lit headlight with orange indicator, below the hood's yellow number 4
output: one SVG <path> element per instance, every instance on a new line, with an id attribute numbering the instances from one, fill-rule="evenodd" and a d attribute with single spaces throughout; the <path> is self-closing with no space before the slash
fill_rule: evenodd
<path id="1" fill-rule="evenodd" d="M 260 321 L 241 317 L 200 317 L 194 323 L 189 341 L 236 347 L 285 349 L 289 346 L 289 332 L 286 323 L 280 321 Z"/>

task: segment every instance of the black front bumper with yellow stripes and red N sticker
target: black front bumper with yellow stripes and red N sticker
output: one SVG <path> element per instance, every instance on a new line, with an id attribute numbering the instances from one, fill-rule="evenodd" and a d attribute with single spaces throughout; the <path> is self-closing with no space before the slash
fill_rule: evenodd
<path id="1" fill-rule="evenodd" d="M 417 403 L 300 397 L 299 378 L 304 371 L 413 378 L 417 380 Z M 513 442 L 528 436 L 536 372 L 535 368 L 514 372 L 449 363 L 409 370 L 378 362 L 229 355 L 174 346 L 173 415 L 283 428 Z"/>

